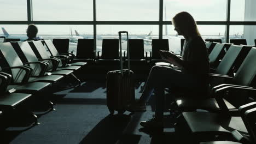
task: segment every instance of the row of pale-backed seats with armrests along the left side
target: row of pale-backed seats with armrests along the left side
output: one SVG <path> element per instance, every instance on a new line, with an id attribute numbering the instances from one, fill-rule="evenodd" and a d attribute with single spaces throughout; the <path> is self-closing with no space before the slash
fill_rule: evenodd
<path id="1" fill-rule="evenodd" d="M 28 113 L 34 124 L 38 124 L 31 105 L 44 101 L 54 110 L 53 98 L 49 95 L 56 87 L 60 88 L 65 79 L 81 83 L 73 72 L 86 63 L 71 63 L 72 56 L 55 51 L 50 40 L 0 43 L 0 111 L 4 119 L 8 121 L 13 117 L 11 113 L 22 107 L 22 112 Z"/>

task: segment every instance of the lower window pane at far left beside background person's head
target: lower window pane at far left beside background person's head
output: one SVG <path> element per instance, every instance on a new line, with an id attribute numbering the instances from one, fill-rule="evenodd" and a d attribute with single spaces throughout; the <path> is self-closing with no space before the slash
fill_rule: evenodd
<path id="1" fill-rule="evenodd" d="M 27 25 L 0 25 L 0 27 L 2 28 L 0 36 L 10 39 L 21 39 L 21 41 L 27 39 Z M 3 29 L 5 32 L 3 32 Z"/>

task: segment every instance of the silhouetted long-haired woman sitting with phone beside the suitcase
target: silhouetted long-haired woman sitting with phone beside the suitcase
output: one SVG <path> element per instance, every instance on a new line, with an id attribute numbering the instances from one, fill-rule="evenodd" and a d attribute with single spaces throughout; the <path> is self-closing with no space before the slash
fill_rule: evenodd
<path id="1" fill-rule="evenodd" d="M 177 88 L 180 91 L 189 91 L 191 89 L 193 91 L 207 92 L 208 51 L 197 29 L 194 18 L 189 13 L 183 11 L 173 17 L 172 23 L 174 30 L 185 38 L 182 58 L 168 51 L 160 51 L 160 55 L 162 59 L 178 66 L 181 71 L 165 66 L 154 66 L 150 70 L 141 98 L 136 103 L 128 106 L 129 111 L 146 111 L 146 103 L 154 91 L 155 117 L 148 121 L 142 121 L 141 125 L 143 127 L 163 128 L 162 119 L 165 109 L 164 88 L 170 88 L 171 92 Z M 200 96 L 200 94 L 196 95 L 196 97 Z"/>

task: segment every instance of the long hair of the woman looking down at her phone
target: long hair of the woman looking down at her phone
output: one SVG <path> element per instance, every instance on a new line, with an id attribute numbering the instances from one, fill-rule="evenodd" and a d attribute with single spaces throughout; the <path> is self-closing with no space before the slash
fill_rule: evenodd
<path id="1" fill-rule="evenodd" d="M 199 33 L 196 22 L 188 12 L 182 11 L 181 13 L 176 14 L 172 18 L 172 24 L 176 27 L 179 27 L 181 31 L 187 32 L 190 36 L 198 35 L 201 36 Z"/>

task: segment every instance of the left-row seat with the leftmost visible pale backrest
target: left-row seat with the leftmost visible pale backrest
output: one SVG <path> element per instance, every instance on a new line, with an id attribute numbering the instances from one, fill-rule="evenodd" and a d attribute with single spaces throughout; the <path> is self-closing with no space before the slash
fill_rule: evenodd
<path id="1" fill-rule="evenodd" d="M 1 51 L 1 66 L 3 71 L 9 71 L 13 76 L 13 83 L 27 83 L 27 82 L 50 82 L 54 83 L 60 80 L 61 75 L 49 75 L 49 76 L 32 76 L 33 69 L 25 66 L 18 54 L 13 49 L 10 43 L 0 44 Z M 19 69 L 17 69 L 19 68 Z M 8 72 L 7 72 L 8 73 Z"/>

